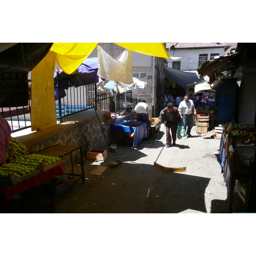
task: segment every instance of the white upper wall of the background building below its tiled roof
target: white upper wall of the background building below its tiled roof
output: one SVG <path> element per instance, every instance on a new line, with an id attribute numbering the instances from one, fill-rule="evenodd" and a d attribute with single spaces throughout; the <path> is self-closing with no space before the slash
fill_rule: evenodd
<path id="1" fill-rule="evenodd" d="M 168 67 L 172 68 L 173 61 L 180 61 L 180 70 L 190 71 L 196 70 L 198 68 L 198 58 L 199 54 L 208 54 L 207 60 L 210 60 L 211 54 L 224 55 L 224 48 L 206 48 L 206 49 L 176 49 L 167 50 L 170 57 L 183 57 L 177 60 L 166 59 Z"/>

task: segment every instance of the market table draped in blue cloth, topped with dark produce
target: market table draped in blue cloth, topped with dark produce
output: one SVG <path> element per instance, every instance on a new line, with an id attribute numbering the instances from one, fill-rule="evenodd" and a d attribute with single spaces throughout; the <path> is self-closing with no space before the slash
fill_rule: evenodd
<path id="1" fill-rule="evenodd" d="M 136 120 L 118 121 L 110 126 L 111 131 L 122 131 L 134 133 L 133 147 L 137 148 L 138 144 L 147 137 L 147 124 Z"/>

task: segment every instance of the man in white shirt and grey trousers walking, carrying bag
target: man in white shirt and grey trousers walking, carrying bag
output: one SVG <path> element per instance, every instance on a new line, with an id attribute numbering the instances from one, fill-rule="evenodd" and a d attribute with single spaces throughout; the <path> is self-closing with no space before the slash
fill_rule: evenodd
<path id="1" fill-rule="evenodd" d="M 194 112 L 194 114 L 196 115 L 196 110 L 193 101 L 189 99 L 189 95 L 184 96 L 184 100 L 180 102 L 178 111 L 180 113 L 187 135 L 189 137 L 192 137 L 192 135 L 190 134 L 194 123 L 192 113 Z"/>

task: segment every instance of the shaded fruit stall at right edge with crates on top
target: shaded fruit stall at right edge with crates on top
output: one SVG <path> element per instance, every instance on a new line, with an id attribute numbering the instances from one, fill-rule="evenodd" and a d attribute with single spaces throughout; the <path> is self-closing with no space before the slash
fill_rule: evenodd
<path id="1" fill-rule="evenodd" d="M 234 127 L 231 128 L 230 127 Z M 236 127 L 236 128 L 235 128 Z M 234 129 L 234 130 L 233 130 Z M 253 125 L 233 124 L 223 131 L 220 142 L 221 173 L 227 184 L 228 212 L 232 212 L 234 190 L 247 204 L 253 170 L 256 138 Z M 243 186 L 242 186 L 242 185 Z"/>

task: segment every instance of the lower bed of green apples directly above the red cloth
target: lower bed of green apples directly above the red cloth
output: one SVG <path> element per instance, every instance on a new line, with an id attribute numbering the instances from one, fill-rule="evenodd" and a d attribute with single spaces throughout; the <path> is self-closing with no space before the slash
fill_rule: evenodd
<path id="1" fill-rule="evenodd" d="M 17 157 L 16 160 L 11 163 L 4 163 L 0 166 L 0 176 L 3 179 L 8 177 L 8 174 L 14 174 L 15 179 L 23 175 L 34 172 L 38 169 L 38 165 L 44 162 L 45 166 L 49 166 L 54 163 L 58 163 L 62 160 L 61 157 L 50 157 L 40 154 L 26 154 L 24 156 Z"/>

